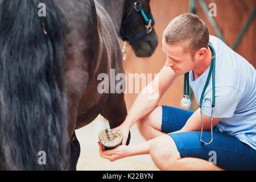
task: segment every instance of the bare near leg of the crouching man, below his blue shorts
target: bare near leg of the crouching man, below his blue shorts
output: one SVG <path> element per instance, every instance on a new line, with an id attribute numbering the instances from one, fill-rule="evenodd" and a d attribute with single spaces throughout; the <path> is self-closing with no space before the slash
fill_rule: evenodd
<path id="1" fill-rule="evenodd" d="M 223 170 L 199 158 L 182 158 L 169 135 L 155 138 L 150 145 L 150 156 L 160 170 Z"/>

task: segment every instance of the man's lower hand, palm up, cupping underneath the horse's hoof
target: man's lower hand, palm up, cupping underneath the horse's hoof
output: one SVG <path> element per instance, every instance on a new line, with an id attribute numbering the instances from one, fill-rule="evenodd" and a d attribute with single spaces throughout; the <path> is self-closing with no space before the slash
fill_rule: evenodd
<path id="1" fill-rule="evenodd" d="M 128 154 L 128 146 L 118 146 L 112 150 L 104 151 L 104 146 L 100 142 L 98 142 L 100 156 L 105 159 L 109 159 L 110 162 L 114 162 L 115 160 L 125 158 Z"/>

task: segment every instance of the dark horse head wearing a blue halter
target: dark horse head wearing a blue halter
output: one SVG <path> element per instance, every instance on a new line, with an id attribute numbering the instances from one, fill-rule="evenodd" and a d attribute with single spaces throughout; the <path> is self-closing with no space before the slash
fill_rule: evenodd
<path id="1" fill-rule="evenodd" d="M 120 36 L 138 57 L 151 56 L 158 45 L 150 0 L 126 0 Z"/>

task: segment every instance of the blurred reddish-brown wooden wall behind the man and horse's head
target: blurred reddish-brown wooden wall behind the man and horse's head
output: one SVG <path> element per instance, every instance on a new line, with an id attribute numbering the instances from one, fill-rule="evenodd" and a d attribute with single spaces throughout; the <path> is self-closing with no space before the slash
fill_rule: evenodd
<path id="1" fill-rule="evenodd" d="M 256 6 L 256 0 L 206 0 L 207 5 L 214 2 L 217 5 L 217 17 L 214 17 L 218 27 L 228 46 L 232 47 L 237 39 L 239 32 L 245 25 L 250 14 Z M 166 61 L 166 55 L 162 51 L 162 32 L 167 24 L 175 16 L 187 13 L 189 11 L 188 0 L 151 0 L 151 10 L 155 17 L 155 30 L 159 36 L 159 45 L 154 55 L 147 59 L 139 59 L 129 47 L 127 49 L 127 59 L 124 63 L 126 74 L 128 73 L 158 73 Z M 199 2 L 197 2 L 197 15 L 207 23 L 210 35 L 215 35 L 212 26 Z M 256 67 L 256 18 L 250 25 L 236 52 L 245 57 L 251 64 Z M 127 93 L 125 95 L 127 108 L 133 104 L 138 94 Z M 180 107 L 180 99 L 183 97 L 183 77 L 180 77 L 171 86 L 168 92 L 160 101 L 160 105 L 171 105 Z M 196 107 L 196 105 L 195 105 Z"/>

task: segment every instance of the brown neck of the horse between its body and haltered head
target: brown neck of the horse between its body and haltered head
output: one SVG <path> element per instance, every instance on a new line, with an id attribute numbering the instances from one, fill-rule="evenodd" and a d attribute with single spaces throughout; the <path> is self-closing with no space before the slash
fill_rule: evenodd
<path id="1" fill-rule="evenodd" d="M 112 1 L 105 1 L 105 0 L 94 0 L 100 3 L 101 6 L 104 7 L 106 12 L 109 14 L 112 22 L 115 26 L 115 31 L 119 34 L 122 24 L 122 18 L 124 15 L 124 7 L 126 0 L 112 0 Z"/>

